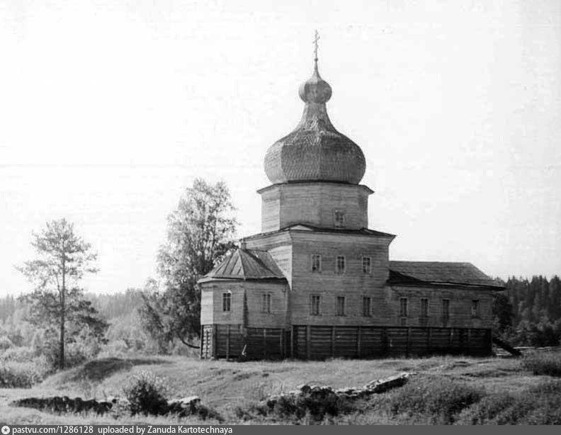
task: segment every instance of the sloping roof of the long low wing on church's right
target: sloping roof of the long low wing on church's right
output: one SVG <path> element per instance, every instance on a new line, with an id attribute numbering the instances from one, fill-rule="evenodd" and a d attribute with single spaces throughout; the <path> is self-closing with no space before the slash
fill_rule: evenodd
<path id="1" fill-rule="evenodd" d="M 450 261 L 390 261 L 390 283 L 503 288 L 473 264 Z"/>

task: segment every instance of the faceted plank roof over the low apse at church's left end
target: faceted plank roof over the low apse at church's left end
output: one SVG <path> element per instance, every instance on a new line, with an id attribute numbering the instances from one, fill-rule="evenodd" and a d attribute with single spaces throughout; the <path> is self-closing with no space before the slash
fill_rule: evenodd
<path id="1" fill-rule="evenodd" d="M 208 278 L 228 279 L 285 279 L 283 272 L 266 251 L 257 249 L 236 249 L 222 263 L 207 273 Z"/>

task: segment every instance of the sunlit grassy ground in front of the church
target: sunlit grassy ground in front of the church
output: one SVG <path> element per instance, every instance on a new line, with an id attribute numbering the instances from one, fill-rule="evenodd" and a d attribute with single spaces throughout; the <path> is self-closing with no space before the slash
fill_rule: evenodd
<path id="1" fill-rule="evenodd" d="M 164 376 L 169 380 L 173 390 L 171 397 L 198 395 L 204 405 L 216 409 L 224 417 L 224 422 L 232 424 L 295 422 L 293 419 L 259 417 L 241 410 L 251 409 L 257 402 L 266 399 L 271 394 L 294 390 L 297 385 L 302 383 L 331 385 L 334 388 L 361 387 L 370 380 L 385 378 L 403 371 L 414 371 L 418 375 L 411 381 L 410 386 L 404 387 L 410 389 L 407 397 L 414 396 L 415 392 L 419 390 L 428 391 L 435 385 L 441 384 L 441 390 L 446 390 L 446 392 L 454 390 L 455 385 L 462 385 L 462 388 L 475 391 L 477 400 L 484 396 L 485 400 L 491 400 L 489 397 L 494 398 L 494 401 L 491 400 L 492 405 L 489 405 L 492 407 L 497 406 L 495 403 L 497 398 L 523 397 L 536 385 L 555 382 L 555 378 L 549 375 L 535 375 L 521 361 L 509 358 L 431 357 L 369 361 L 244 363 L 200 361 L 196 358 L 179 356 L 100 358 L 52 375 L 31 389 L 1 389 L 1 419 L 11 424 L 200 424 L 200 420 L 194 417 L 191 419 L 178 419 L 170 416 L 115 418 L 109 415 L 97 416 L 94 414 L 50 414 L 35 409 L 8 406 L 12 400 L 23 397 L 67 395 L 103 400 L 106 397 L 122 395 L 121 388 L 130 374 L 135 371 L 151 371 L 159 376 Z M 392 403 L 396 400 L 403 400 L 403 398 L 399 398 L 398 394 L 399 392 L 395 390 L 379 395 L 371 401 L 357 405 L 351 412 L 344 415 L 326 417 L 323 423 L 435 422 L 429 418 L 430 409 L 421 409 L 421 414 L 425 413 L 424 417 L 414 417 L 416 410 L 419 410 L 417 409 L 420 406 L 419 403 L 412 403 L 407 409 L 394 407 Z M 557 390 L 553 394 L 557 395 Z M 473 394 L 470 395 L 470 397 L 472 396 Z M 426 401 L 426 398 L 423 400 Z M 466 403 L 467 405 L 463 404 L 464 412 L 470 406 L 481 407 L 480 404 Z M 481 409 L 475 409 L 473 412 L 476 411 L 482 412 Z M 464 419 L 463 422 L 468 420 Z M 298 422 L 310 421 L 307 417 Z M 456 420 L 446 419 L 446 422 L 456 422 Z M 207 420 L 205 423 L 217 422 Z"/>

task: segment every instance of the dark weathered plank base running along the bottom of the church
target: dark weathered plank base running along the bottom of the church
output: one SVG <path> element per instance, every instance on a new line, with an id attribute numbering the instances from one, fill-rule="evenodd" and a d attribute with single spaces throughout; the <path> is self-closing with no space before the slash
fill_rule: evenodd
<path id="1" fill-rule="evenodd" d="M 339 327 L 297 325 L 242 328 L 214 324 L 202 328 L 201 357 L 248 359 L 377 358 L 431 354 L 491 354 L 491 329 L 440 327 Z"/>

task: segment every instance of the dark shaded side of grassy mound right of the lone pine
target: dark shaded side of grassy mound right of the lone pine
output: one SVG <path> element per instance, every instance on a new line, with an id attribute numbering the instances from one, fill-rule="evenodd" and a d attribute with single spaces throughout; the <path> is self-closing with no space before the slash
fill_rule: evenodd
<path id="1" fill-rule="evenodd" d="M 66 378 L 66 381 L 71 382 L 79 380 L 101 382 L 103 379 L 113 375 L 113 373 L 129 371 L 134 366 L 166 363 L 169 362 L 160 358 L 99 358 L 74 368 L 66 373 L 67 375 L 64 378 Z"/>

